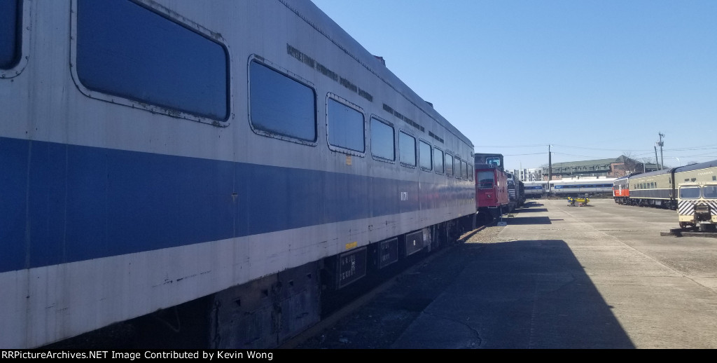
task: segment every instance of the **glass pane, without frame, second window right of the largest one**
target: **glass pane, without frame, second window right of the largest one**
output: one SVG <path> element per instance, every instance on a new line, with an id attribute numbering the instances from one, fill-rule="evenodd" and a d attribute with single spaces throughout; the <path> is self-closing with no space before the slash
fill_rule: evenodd
<path id="1" fill-rule="evenodd" d="M 363 153 L 366 151 L 364 114 L 348 105 L 328 99 L 328 143 Z"/>

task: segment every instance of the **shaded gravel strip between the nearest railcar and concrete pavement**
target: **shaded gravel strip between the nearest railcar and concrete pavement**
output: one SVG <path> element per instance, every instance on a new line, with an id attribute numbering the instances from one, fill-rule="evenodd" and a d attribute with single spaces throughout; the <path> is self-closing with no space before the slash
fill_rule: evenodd
<path id="1" fill-rule="evenodd" d="M 459 274 L 481 245 L 501 242 L 496 225 L 463 235 L 461 241 L 428 256 L 389 283 L 361 306 L 347 308 L 336 323 L 300 343 L 295 349 L 389 349 L 402 332 Z"/>

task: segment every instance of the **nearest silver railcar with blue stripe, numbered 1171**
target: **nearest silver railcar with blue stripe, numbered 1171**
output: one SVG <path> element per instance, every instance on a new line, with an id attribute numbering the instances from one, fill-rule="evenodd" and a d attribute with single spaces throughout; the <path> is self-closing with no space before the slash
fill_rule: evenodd
<path id="1" fill-rule="evenodd" d="M 470 140 L 308 0 L 0 17 L 0 348 L 198 298 L 272 347 L 475 213 Z"/>

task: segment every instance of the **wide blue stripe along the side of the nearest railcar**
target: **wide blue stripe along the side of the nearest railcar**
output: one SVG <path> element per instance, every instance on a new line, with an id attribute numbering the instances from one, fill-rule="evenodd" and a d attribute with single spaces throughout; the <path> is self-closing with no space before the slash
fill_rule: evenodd
<path id="1" fill-rule="evenodd" d="M 447 202 L 439 184 L 11 138 L 0 165 L 0 272 Z M 447 192 L 471 203 L 463 184 Z"/>

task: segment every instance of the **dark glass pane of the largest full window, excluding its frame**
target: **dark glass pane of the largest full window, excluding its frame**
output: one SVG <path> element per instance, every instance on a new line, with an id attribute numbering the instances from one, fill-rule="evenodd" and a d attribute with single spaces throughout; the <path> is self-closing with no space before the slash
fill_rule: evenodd
<path id="1" fill-rule="evenodd" d="M 132 1 L 77 1 L 77 77 L 86 88 L 224 121 L 222 44 Z"/>

